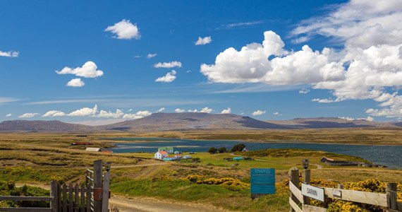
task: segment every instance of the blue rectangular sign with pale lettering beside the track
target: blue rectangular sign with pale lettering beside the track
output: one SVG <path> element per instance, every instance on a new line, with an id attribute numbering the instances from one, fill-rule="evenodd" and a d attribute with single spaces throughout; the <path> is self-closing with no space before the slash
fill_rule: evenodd
<path id="1" fill-rule="evenodd" d="M 251 195 L 275 194 L 275 169 L 251 169 Z"/>

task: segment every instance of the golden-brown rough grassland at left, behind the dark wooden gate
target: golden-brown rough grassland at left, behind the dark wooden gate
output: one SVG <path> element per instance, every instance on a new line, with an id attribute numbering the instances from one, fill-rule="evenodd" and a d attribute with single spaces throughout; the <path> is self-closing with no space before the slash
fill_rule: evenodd
<path id="1" fill-rule="evenodd" d="M 114 165 L 146 165 L 155 160 L 129 154 L 111 154 L 85 151 L 86 146 L 71 146 L 83 142 L 75 135 L 57 134 L 1 134 L 0 177 L 14 182 L 49 183 L 82 180 L 85 169 L 91 168 L 94 160 L 110 161 Z M 89 147 L 108 146 L 102 141 L 92 141 Z"/>

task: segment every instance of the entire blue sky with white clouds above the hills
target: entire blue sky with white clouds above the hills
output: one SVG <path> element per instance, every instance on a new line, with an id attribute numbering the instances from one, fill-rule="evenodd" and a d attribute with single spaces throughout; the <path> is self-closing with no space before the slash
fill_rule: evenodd
<path id="1" fill-rule="evenodd" d="M 402 117 L 402 1 L 1 1 L 0 122 Z"/>

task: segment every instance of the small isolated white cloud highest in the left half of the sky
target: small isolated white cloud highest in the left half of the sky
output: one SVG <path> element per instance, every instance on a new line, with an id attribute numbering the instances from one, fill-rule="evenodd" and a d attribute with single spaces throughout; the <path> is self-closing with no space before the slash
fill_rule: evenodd
<path id="1" fill-rule="evenodd" d="M 121 40 L 140 39 L 140 31 L 137 25 L 130 23 L 130 20 L 123 19 L 114 25 L 108 26 L 105 30 L 111 32 L 114 37 Z"/>

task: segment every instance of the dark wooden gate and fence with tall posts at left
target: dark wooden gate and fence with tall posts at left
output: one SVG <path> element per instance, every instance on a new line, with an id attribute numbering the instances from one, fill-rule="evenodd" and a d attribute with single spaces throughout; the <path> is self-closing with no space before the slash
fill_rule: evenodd
<path id="1" fill-rule="evenodd" d="M 0 208 L 0 211 L 107 212 L 110 174 L 107 170 L 102 175 L 102 165 L 102 160 L 95 160 L 94 170 L 87 170 L 86 181 L 81 185 L 52 181 L 50 196 L 0 196 L 0 201 L 50 201 L 49 208 Z"/>

